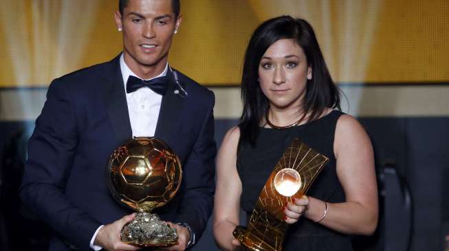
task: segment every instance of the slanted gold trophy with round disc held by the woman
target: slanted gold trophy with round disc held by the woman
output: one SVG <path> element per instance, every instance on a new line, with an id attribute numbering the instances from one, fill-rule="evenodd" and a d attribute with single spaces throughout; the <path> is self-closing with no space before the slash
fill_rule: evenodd
<path id="1" fill-rule="evenodd" d="M 281 251 L 288 226 L 283 220 L 287 202 L 307 192 L 328 160 L 294 139 L 265 183 L 248 226 L 237 226 L 234 237 L 250 250 Z"/>

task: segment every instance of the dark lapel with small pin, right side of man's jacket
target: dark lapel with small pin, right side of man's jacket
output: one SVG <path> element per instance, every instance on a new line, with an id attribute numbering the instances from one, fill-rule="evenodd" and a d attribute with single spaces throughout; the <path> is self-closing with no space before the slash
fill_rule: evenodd
<path id="1" fill-rule="evenodd" d="M 185 98 L 175 94 L 175 90 L 178 90 L 179 92 L 179 89 L 175 82 L 173 72 L 170 69 L 168 69 L 167 76 L 170 82 L 168 83 L 169 86 L 166 94 L 162 97 L 162 104 L 159 112 L 159 119 L 157 119 L 155 137 L 168 143 L 174 125 L 176 125 L 179 121 L 179 115 Z"/>

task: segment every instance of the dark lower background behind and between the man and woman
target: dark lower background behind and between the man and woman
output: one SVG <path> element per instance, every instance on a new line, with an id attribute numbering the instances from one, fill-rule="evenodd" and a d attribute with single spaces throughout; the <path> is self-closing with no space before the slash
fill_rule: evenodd
<path id="1" fill-rule="evenodd" d="M 444 250 L 449 234 L 449 117 L 360 117 L 375 149 L 380 223 L 356 250 Z M 217 119 L 217 144 L 235 119 Z M 0 250 L 45 250 L 50 230 L 17 196 L 34 121 L 0 122 Z M 409 193 L 408 193 L 409 192 Z M 410 197 L 408 197 L 410 195 Z M 194 250 L 218 250 L 210 222 Z"/>

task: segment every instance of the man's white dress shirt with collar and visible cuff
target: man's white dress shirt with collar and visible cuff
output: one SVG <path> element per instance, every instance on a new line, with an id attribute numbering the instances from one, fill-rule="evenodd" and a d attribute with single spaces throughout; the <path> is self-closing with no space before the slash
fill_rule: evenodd
<path id="1" fill-rule="evenodd" d="M 133 132 L 133 136 L 154 136 L 157 119 L 159 118 L 159 111 L 161 108 L 162 95 L 155 93 L 150 88 L 139 88 L 137 91 L 133 93 L 127 93 L 127 81 L 130 75 L 138 77 L 129 67 L 126 62 L 124 62 L 123 53 L 120 56 L 120 71 L 122 71 L 123 77 L 123 88 L 124 92 L 127 94 L 127 104 L 128 104 L 128 114 L 129 121 L 131 122 L 131 130 Z M 163 77 L 167 74 L 168 71 L 168 62 L 165 66 L 164 71 L 157 75 L 156 77 Z M 139 77 L 140 78 L 140 77 Z M 155 77 L 152 77 L 149 80 L 152 80 Z M 168 83 L 167 83 L 168 84 Z M 101 250 L 100 246 L 94 245 L 95 238 L 98 234 L 100 228 L 104 225 L 97 228 L 90 241 L 90 248 L 93 250 Z"/>

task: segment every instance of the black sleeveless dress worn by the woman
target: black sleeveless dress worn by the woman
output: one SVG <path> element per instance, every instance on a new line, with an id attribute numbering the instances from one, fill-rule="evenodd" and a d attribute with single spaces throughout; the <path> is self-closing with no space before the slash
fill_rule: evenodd
<path id="1" fill-rule="evenodd" d="M 342 112 L 333 110 L 328 115 L 304 125 L 283 130 L 261 128 L 256 144 L 240 143 L 237 153 L 237 171 L 242 182 L 241 208 L 248 219 L 259 198 L 261 189 L 285 149 L 294 138 L 329 158 L 307 195 L 325 202 L 344 202 L 344 191 L 336 174 L 336 158 L 333 154 L 333 136 Z M 351 240 L 321 224 L 300 217 L 289 226 L 284 249 L 289 250 L 352 250 Z"/>

